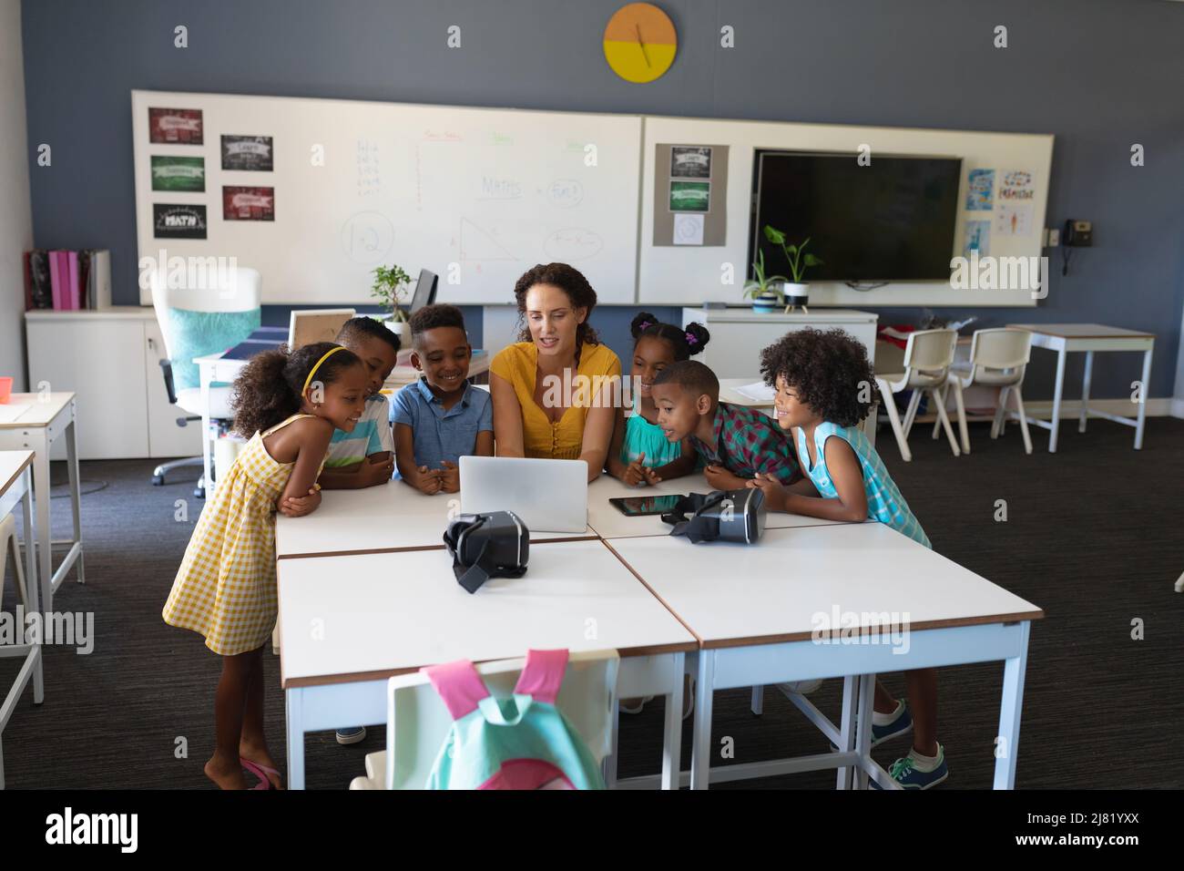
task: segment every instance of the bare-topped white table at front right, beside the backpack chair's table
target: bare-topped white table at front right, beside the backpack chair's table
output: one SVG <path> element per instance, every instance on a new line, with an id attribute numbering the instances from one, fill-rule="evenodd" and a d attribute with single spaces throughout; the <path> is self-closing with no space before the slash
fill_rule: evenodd
<path id="1" fill-rule="evenodd" d="M 613 550 L 701 640 L 690 782 L 838 768 L 845 788 L 874 777 L 895 786 L 870 756 L 875 675 L 912 668 L 1004 660 L 995 787 L 1012 788 L 1030 621 L 1043 613 L 882 524 L 770 530 L 759 546 L 710 546 L 625 538 Z M 676 550 L 681 547 L 682 550 Z M 821 643 L 813 633 L 838 610 L 869 629 L 876 615 L 907 621 L 905 645 Z M 868 635 L 884 640 L 882 635 Z M 791 700 L 838 752 L 709 769 L 712 693 L 787 680 L 844 678 L 842 726 L 806 699 Z M 858 697 L 860 734 L 854 721 Z M 754 712 L 759 699 L 754 693 Z"/>

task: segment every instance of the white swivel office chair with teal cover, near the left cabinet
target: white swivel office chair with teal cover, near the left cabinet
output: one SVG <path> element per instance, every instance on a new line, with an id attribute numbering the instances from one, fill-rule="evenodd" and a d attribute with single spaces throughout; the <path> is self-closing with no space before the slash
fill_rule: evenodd
<path id="1" fill-rule="evenodd" d="M 167 359 L 160 361 L 165 376 L 165 389 L 168 391 L 168 401 L 187 412 L 185 417 L 176 418 L 179 427 L 185 427 L 189 421 L 201 420 L 201 388 L 195 383 L 197 364 L 193 364 L 192 359 L 225 351 L 246 339 L 259 326 L 259 306 L 263 297 L 263 281 L 256 269 L 236 267 L 194 271 L 199 274 L 191 276 L 195 277 L 192 283 L 187 280 L 178 282 L 175 275 L 159 270 L 153 270 L 149 277 L 153 308 L 156 310 L 160 333 L 165 338 Z M 170 287 L 170 284 L 176 283 L 185 283 L 185 287 Z M 186 321 L 174 318 L 174 309 L 186 313 L 240 314 L 242 316 L 233 319 L 194 318 Z M 251 318 L 250 313 L 252 312 L 255 318 Z M 251 326 L 252 324 L 253 326 Z M 204 329 L 208 329 L 208 332 L 202 332 Z M 185 372 L 179 372 L 178 369 L 182 366 L 186 367 Z M 191 366 L 192 369 L 189 369 Z M 184 377 L 179 378 L 179 376 Z M 179 382 L 182 386 L 175 389 Z M 231 392 L 229 386 L 211 389 L 211 418 L 230 418 Z M 206 434 L 202 433 L 202 438 L 205 437 Z M 202 457 L 200 456 L 161 463 L 153 470 L 153 483 L 162 485 L 166 473 L 170 469 L 180 466 L 201 465 Z M 204 489 L 205 481 L 199 481 L 194 495 L 200 498 Z"/>

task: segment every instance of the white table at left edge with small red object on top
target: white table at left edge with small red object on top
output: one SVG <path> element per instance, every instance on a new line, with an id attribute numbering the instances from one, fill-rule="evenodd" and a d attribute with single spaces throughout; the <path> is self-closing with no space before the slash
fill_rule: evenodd
<path id="1" fill-rule="evenodd" d="M 112 388 L 115 389 L 115 388 Z M 78 583 L 85 583 L 82 547 L 82 492 L 78 488 L 78 447 L 75 433 L 75 395 L 72 392 L 13 393 L 13 405 L 27 405 L 14 421 L 0 422 L 0 450 L 33 451 L 33 501 L 37 504 L 37 537 L 25 527 L 26 542 L 37 542 L 40 562 L 41 606 L 53 611 L 53 594 L 75 564 Z M 73 537 L 54 542 L 50 530 L 50 448 L 59 437 L 66 443 L 66 470 L 70 476 L 70 506 L 73 510 Z M 62 564 L 53 571 L 54 544 L 70 545 Z M 27 546 L 27 544 L 26 544 Z"/>

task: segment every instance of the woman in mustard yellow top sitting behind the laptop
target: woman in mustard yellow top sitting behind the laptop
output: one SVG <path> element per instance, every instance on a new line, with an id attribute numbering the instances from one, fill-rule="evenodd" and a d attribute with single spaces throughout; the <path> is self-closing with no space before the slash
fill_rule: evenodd
<path id="1" fill-rule="evenodd" d="M 593 481 L 620 390 L 620 360 L 588 324 L 596 290 L 566 263 L 540 263 L 517 280 L 514 299 L 526 325 L 489 366 L 497 456 L 584 460 Z"/>

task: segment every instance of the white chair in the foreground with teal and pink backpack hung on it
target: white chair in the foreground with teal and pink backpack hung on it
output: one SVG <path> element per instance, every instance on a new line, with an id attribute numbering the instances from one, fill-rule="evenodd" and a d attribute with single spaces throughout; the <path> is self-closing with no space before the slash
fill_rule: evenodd
<path id="1" fill-rule="evenodd" d="M 616 651 L 572 653 L 556 706 L 603 763 L 612 752 L 613 711 L 617 707 Z M 497 698 L 514 692 L 525 658 L 477 665 L 477 673 Z M 366 755 L 366 774 L 350 789 L 423 789 L 452 728 L 436 689 L 423 672 L 387 681 L 386 750 Z"/>

